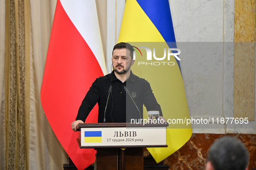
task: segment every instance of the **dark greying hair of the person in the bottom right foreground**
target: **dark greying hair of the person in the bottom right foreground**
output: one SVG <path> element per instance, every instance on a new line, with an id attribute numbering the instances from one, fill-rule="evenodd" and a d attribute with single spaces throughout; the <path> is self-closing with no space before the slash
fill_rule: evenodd
<path id="1" fill-rule="evenodd" d="M 207 161 L 215 170 L 245 170 L 249 154 L 242 142 L 225 136 L 211 145 Z"/>

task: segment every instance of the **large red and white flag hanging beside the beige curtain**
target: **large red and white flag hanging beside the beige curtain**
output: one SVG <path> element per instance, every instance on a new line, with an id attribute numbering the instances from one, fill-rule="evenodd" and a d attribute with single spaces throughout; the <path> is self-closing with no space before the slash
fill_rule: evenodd
<path id="1" fill-rule="evenodd" d="M 41 103 L 58 140 L 78 170 L 95 161 L 71 130 L 79 106 L 97 77 L 107 74 L 95 0 L 58 0 L 41 88 Z M 97 122 L 95 106 L 86 122 Z"/>

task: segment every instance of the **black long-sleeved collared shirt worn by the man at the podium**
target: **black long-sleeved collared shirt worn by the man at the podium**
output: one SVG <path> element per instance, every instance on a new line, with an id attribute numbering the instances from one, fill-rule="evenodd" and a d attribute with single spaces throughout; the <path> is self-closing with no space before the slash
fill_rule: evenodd
<path id="1" fill-rule="evenodd" d="M 103 122 L 110 85 L 112 85 L 112 92 L 107 104 L 106 122 L 131 122 L 130 119 L 139 119 L 139 111 L 130 96 L 126 95 L 123 86 L 126 86 L 130 91 L 130 95 L 141 112 L 142 119 L 143 104 L 147 111 L 159 111 L 160 116 L 162 116 L 161 107 L 152 93 L 150 84 L 145 79 L 137 77 L 131 71 L 129 79 L 123 83 L 117 79 L 114 71 L 112 71 L 112 73 L 99 77 L 92 83 L 81 103 L 76 120 L 84 122 L 91 109 L 98 103 L 98 122 Z"/>

